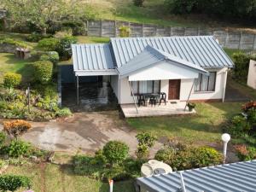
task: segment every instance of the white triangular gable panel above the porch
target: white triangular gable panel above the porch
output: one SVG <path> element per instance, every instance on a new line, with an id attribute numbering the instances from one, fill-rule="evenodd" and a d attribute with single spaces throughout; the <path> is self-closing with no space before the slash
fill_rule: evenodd
<path id="1" fill-rule="evenodd" d="M 178 72 L 178 73 L 177 73 Z M 129 76 L 130 81 L 160 80 L 160 79 L 193 79 L 198 73 L 171 63 L 160 62 L 153 67 L 148 67 Z"/>

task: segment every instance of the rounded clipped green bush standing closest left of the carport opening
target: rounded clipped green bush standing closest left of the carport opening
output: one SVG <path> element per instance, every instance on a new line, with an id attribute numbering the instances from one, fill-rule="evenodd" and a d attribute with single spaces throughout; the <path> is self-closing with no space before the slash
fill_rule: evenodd
<path id="1" fill-rule="evenodd" d="M 48 84 L 52 79 L 53 63 L 51 61 L 37 61 L 34 63 L 34 78 L 41 84 Z"/>

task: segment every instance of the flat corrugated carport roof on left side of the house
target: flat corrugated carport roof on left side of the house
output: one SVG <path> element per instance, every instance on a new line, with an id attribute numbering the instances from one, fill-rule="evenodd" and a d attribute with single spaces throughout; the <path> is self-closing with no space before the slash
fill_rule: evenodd
<path id="1" fill-rule="evenodd" d="M 109 44 L 73 44 L 72 51 L 74 71 L 114 68 Z"/>

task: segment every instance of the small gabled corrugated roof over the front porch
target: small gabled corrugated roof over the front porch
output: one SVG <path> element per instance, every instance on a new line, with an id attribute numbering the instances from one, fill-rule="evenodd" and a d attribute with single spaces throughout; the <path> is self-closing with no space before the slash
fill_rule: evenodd
<path id="1" fill-rule="evenodd" d="M 200 73 L 207 73 L 203 68 L 195 66 L 195 64 L 182 60 L 177 56 L 167 54 L 159 49 L 155 49 L 147 45 L 141 53 L 136 55 L 131 61 L 118 68 L 119 74 L 123 77 L 136 72 L 144 67 L 149 67 L 160 61 L 171 61 L 172 64 L 181 65 L 182 67 L 189 67 Z"/>

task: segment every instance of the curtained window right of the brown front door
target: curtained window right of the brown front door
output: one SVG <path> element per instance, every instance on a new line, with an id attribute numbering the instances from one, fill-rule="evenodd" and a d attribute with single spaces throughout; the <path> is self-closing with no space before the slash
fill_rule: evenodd
<path id="1" fill-rule="evenodd" d="M 216 72 L 210 72 L 210 75 L 200 74 L 195 80 L 195 91 L 214 91 L 215 90 Z"/>

